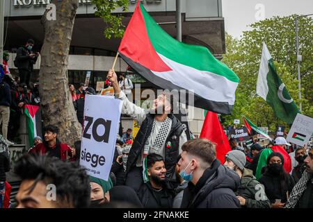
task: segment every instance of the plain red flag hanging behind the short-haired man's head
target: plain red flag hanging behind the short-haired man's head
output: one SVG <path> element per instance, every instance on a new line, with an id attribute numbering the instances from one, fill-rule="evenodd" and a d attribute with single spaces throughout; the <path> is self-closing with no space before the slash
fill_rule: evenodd
<path id="1" fill-rule="evenodd" d="M 207 111 L 200 138 L 209 139 L 211 142 L 216 143 L 216 158 L 223 164 L 225 162 L 225 155 L 231 149 L 227 136 L 215 112 Z"/>

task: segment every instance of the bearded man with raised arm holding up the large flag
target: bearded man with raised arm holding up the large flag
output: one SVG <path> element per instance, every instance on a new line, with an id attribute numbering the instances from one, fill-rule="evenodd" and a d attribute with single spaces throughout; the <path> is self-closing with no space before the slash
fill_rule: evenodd
<path id="1" fill-rule="evenodd" d="M 123 101 L 122 114 L 133 117 L 141 126 L 127 159 L 125 185 L 138 191 L 143 184 L 143 159 L 150 153 L 163 157 L 166 177 L 172 185 L 176 185 L 175 163 L 187 137 L 182 123 L 172 114 L 178 108 L 174 96 L 163 92 L 154 99 L 152 108 L 147 112 L 127 99 L 118 85 L 115 71 L 110 70 L 107 78 L 112 83 L 115 97 Z"/>

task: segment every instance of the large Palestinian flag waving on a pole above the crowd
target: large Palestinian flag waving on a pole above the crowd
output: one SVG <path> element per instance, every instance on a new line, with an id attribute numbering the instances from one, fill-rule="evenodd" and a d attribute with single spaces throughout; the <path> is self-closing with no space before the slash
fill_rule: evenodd
<path id="1" fill-rule="evenodd" d="M 194 106 L 230 114 L 239 78 L 204 46 L 172 38 L 138 2 L 118 49 L 143 78 L 162 89 L 186 89 Z M 191 104 L 190 104 L 191 105 Z"/>

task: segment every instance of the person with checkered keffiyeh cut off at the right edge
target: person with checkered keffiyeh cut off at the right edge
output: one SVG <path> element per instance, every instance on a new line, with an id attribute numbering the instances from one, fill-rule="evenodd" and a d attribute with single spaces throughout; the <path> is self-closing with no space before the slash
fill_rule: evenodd
<path id="1" fill-rule="evenodd" d="M 305 171 L 292 189 L 284 208 L 313 208 L 313 148 L 304 160 Z"/>

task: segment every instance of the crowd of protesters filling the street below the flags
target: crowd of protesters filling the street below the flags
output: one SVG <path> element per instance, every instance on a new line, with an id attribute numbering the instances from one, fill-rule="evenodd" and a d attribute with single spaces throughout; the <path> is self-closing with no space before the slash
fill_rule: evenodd
<path id="1" fill-rule="evenodd" d="M 216 144 L 208 139 L 187 140 L 182 123 L 172 114 L 177 101 L 171 94 L 160 94 L 146 112 L 127 99 L 113 70 L 107 78 L 115 98 L 123 102 L 122 113 L 141 126 L 134 141 L 131 129 L 118 137 L 109 180 L 88 176 L 79 166 L 81 141 L 70 147 L 58 139 L 58 127 L 48 125 L 44 137 L 35 137 L 34 146 L 15 164 L 14 172 L 22 180 L 15 207 L 313 207 L 312 146 L 291 151 L 291 144 L 277 137 L 266 147 L 255 142 L 248 148 L 230 139 L 232 150 L 220 162 Z M 4 83 L 7 89 L 9 84 Z M 17 88 L 18 98 L 24 93 L 29 99 L 24 87 Z M 77 91 L 74 85 L 69 88 L 83 125 L 85 95 L 95 90 L 83 85 Z M 17 106 L 22 103 L 31 100 Z M 4 144 L 0 146 L 0 207 L 5 172 L 10 168 L 5 139 L 0 137 Z M 296 161 L 292 171 L 291 156 Z"/>

